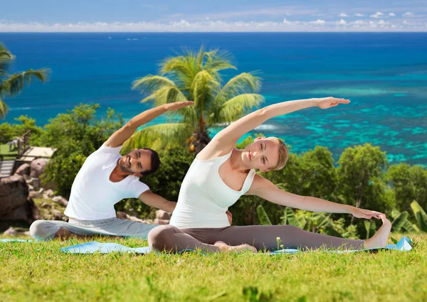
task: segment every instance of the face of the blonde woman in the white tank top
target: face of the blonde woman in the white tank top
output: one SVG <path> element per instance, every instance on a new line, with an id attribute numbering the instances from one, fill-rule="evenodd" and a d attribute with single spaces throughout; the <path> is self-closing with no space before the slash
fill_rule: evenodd
<path id="1" fill-rule="evenodd" d="M 273 170 L 279 161 L 279 146 L 275 141 L 258 137 L 242 152 L 243 163 L 261 172 Z"/>

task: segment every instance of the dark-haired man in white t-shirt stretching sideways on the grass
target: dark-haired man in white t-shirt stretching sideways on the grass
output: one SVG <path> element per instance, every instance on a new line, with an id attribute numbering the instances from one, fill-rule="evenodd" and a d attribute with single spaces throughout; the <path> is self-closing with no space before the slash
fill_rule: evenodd
<path id="1" fill-rule="evenodd" d="M 117 219 L 114 205 L 123 198 L 139 198 L 146 205 L 172 212 L 176 203 L 152 193 L 139 181 L 142 176 L 157 171 L 159 155 L 151 149 L 135 149 L 120 156 L 122 144 L 135 130 L 167 111 L 175 111 L 194 104 L 175 102 L 149 109 L 133 117 L 115 131 L 107 141 L 90 154 L 75 176 L 70 200 L 65 209 L 69 222 L 37 220 L 30 227 L 31 236 L 38 240 L 56 237 L 86 237 L 94 234 L 147 238 L 157 225 L 144 225 Z"/>

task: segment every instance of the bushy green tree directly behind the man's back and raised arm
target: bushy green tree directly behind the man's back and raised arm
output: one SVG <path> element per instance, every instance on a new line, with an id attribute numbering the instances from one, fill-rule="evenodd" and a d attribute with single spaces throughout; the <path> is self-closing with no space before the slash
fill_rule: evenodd
<path id="1" fill-rule="evenodd" d="M 99 107 L 99 104 L 80 104 L 72 111 L 58 114 L 46 125 L 41 141 L 57 150 L 43 173 L 43 181 L 55 183 L 60 195 L 69 196 L 86 158 L 123 124 L 121 114 L 110 108 L 105 119 L 97 119 Z"/>

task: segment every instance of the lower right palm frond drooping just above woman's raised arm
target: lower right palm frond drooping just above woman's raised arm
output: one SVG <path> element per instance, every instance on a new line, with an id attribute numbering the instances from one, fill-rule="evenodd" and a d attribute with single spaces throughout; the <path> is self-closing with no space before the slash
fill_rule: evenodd
<path id="1" fill-rule="evenodd" d="M 238 95 L 223 103 L 221 109 L 217 112 L 217 116 L 213 119 L 216 123 L 234 122 L 251 112 L 254 107 L 258 107 L 262 102 L 264 102 L 262 95 L 253 93 Z"/>

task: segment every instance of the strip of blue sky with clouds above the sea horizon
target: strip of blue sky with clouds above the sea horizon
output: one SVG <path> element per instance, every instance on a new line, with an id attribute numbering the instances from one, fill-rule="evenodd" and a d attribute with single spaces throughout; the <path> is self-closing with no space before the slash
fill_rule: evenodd
<path id="1" fill-rule="evenodd" d="M 20 0 L 0 31 L 427 31 L 426 0 Z"/>

